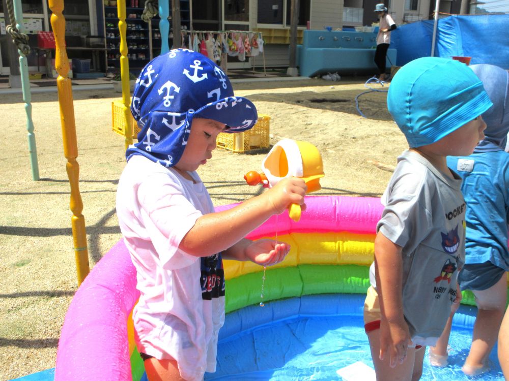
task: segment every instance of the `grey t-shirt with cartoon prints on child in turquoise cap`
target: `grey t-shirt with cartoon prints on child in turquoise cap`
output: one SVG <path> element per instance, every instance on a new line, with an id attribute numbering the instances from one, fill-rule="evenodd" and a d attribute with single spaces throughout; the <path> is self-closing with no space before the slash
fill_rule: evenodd
<path id="1" fill-rule="evenodd" d="M 377 232 L 402 247 L 403 312 L 416 345 L 435 345 L 441 335 L 465 262 L 466 205 L 455 177 L 408 150 L 381 200 Z M 376 288 L 373 265 L 370 281 Z"/>

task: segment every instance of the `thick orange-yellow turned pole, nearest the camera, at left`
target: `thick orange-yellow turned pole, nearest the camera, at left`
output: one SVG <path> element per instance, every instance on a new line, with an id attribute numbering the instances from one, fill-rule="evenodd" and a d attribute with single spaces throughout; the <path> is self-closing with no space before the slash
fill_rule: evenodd
<path id="1" fill-rule="evenodd" d="M 53 28 L 56 45 L 55 69 L 56 72 L 59 73 L 59 77 L 56 79 L 56 87 L 59 93 L 64 155 L 67 158 L 66 171 L 69 177 L 69 184 L 71 185 L 70 208 L 73 213 L 71 225 L 79 285 L 90 272 L 90 267 L 85 218 L 81 214 L 83 203 L 78 186 L 79 164 L 76 161 L 76 157 L 78 156 L 78 144 L 76 141 L 76 124 L 74 121 L 71 80 L 68 78 L 69 59 L 67 58 L 67 52 L 65 50 L 65 18 L 62 14 L 64 11 L 64 1 L 48 0 L 48 4 L 49 9 L 53 12 L 51 15 L 51 27 Z"/>

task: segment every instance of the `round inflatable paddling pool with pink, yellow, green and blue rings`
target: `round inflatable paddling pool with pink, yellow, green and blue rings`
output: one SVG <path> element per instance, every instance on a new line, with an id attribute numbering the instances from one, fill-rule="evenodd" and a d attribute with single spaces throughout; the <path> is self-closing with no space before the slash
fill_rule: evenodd
<path id="1" fill-rule="evenodd" d="M 249 235 L 257 239 L 277 234 L 277 239 L 292 245 L 284 262 L 267 268 L 263 300 L 263 267 L 225 261 L 227 321 L 220 332 L 217 371 L 206 379 L 331 379 L 329 371 L 312 365 L 329 360 L 327 369 L 340 371 L 357 364 L 353 372 L 369 372 L 359 368 L 361 364 L 369 368 L 371 361 L 361 312 L 382 211 L 380 200 L 308 196 L 306 204 L 298 223 L 284 213 Z M 135 282 L 134 266 L 120 241 L 98 262 L 71 302 L 59 342 L 56 380 L 143 379 L 130 319 L 139 296 Z M 472 321 L 472 314 L 459 313 L 455 322 Z M 471 332 L 471 323 L 469 327 Z M 335 337 L 329 332 L 353 336 L 356 341 L 343 340 L 342 345 L 359 356 L 342 353 L 340 357 L 350 364 L 332 361 L 330 354 L 337 351 L 328 348 L 337 340 L 329 341 L 329 335 Z M 263 335 L 268 336 L 260 341 Z M 318 341 L 322 342 L 318 356 L 300 358 L 294 364 Z M 290 348 L 294 352 L 297 348 L 297 353 Z M 293 375 L 285 378 L 282 374 Z"/>

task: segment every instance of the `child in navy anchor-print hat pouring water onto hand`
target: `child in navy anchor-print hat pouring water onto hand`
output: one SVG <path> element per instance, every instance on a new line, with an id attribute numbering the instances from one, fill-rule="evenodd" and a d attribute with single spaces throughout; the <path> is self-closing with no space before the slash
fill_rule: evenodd
<path id="1" fill-rule="evenodd" d="M 282 261 L 288 244 L 243 237 L 292 203 L 305 208 L 306 185 L 288 178 L 214 212 L 195 171 L 211 158 L 220 132 L 246 131 L 258 115 L 200 53 L 175 49 L 150 61 L 136 81 L 131 112 L 141 131 L 126 152 L 117 214 L 141 293 L 133 311 L 136 344 L 149 380 L 201 380 L 215 371 L 224 322 L 222 259 Z"/>

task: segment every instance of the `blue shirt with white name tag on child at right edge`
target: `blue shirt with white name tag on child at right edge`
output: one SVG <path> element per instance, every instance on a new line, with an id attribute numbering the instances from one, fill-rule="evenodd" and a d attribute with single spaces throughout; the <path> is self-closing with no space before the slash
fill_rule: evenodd
<path id="1" fill-rule="evenodd" d="M 509 153 L 498 150 L 448 156 L 447 166 L 463 179 L 466 263 L 490 261 L 508 271 Z"/>

